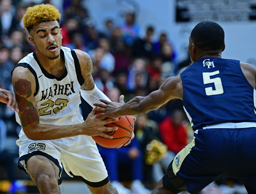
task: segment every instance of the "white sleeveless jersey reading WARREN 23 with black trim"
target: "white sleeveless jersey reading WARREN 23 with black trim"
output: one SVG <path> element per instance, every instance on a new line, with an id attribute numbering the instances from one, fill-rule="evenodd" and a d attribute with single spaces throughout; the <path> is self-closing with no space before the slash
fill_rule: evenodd
<path id="1" fill-rule="evenodd" d="M 60 77 L 49 74 L 39 63 L 35 52 L 28 54 L 17 64 L 28 68 L 35 76 L 34 95 L 41 124 L 70 125 L 84 121 L 79 113 L 79 89 L 84 83 L 79 60 L 75 51 L 67 47 L 61 47 L 60 55 L 65 67 L 64 74 Z M 20 124 L 17 112 L 16 120 Z"/>

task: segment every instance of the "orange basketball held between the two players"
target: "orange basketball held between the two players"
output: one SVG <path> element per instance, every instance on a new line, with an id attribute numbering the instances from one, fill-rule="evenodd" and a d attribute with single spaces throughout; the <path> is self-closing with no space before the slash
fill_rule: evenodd
<path id="1" fill-rule="evenodd" d="M 95 114 L 99 114 L 96 112 Z M 108 118 L 105 118 L 108 119 Z M 105 125 L 106 127 L 118 127 L 116 131 L 105 132 L 105 134 L 112 135 L 113 139 L 102 138 L 100 136 L 93 136 L 94 141 L 105 148 L 116 148 L 122 146 L 130 138 L 134 131 L 133 116 L 120 116 L 119 120 Z"/>

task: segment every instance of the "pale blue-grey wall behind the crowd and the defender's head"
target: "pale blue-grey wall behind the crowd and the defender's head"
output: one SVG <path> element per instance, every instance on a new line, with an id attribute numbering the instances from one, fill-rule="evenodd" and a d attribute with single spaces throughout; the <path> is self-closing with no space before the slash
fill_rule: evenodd
<path id="1" fill-rule="evenodd" d="M 155 38 L 165 31 L 169 35 L 178 59 L 186 57 L 189 34 L 197 22 L 175 22 L 175 0 L 85 0 L 89 14 L 99 29 L 106 18 L 111 17 L 117 25 L 123 22 L 125 10 L 139 8 L 137 24 L 141 26 L 143 36 L 148 25 L 155 27 Z M 131 6 L 135 5 L 135 6 Z M 137 7 L 137 8 L 136 8 Z M 256 22 L 218 22 L 225 31 L 226 49 L 223 58 L 238 59 L 247 62 L 256 59 Z"/>

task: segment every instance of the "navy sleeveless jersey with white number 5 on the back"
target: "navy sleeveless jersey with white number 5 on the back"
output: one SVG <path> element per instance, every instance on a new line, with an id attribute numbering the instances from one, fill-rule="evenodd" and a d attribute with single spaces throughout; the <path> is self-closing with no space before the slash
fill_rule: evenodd
<path id="1" fill-rule="evenodd" d="M 200 59 L 180 76 L 183 107 L 194 130 L 221 123 L 256 122 L 256 90 L 239 61 Z"/>

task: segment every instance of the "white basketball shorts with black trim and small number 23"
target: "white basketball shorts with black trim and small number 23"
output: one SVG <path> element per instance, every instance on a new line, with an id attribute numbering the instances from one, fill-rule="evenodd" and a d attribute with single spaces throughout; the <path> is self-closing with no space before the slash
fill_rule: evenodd
<path id="1" fill-rule="evenodd" d="M 65 169 L 70 177 L 78 177 L 92 187 L 104 186 L 109 181 L 108 172 L 96 143 L 92 137 L 78 135 L 56 140 L 20 141 L 18 167 L 27 174 L 26 159 L 33 155 L 43 155 L 52 160 L 61 171 Z"/>

